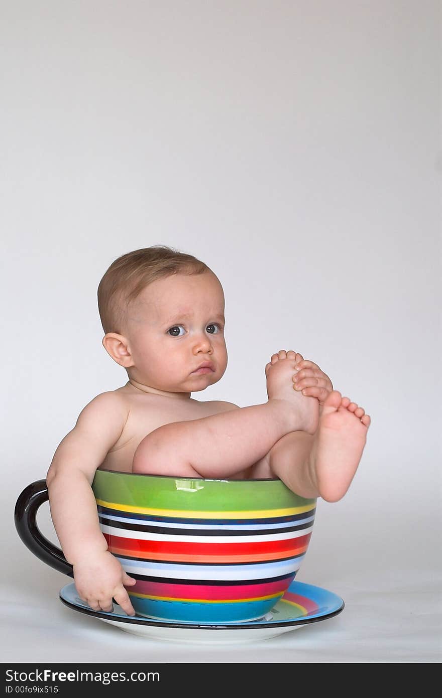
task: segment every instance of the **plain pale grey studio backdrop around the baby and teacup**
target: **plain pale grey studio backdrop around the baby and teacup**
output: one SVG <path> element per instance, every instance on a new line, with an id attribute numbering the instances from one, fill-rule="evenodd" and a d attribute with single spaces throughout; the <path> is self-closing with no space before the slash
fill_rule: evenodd
<path id="1" fill-rule="evenodd" d="M 0 9 L 3 661 L 439 661 L 439 3 Z M 225 290 L 228 369 L 194 397 L 264 402 L 294 349 L 373 419 L 298 577 L 344 598 L 337 618 L 241 648 L 135 638 L 62 606 L 68 578 L 15 533 L 20 491 L 126 380 L 96 288 L 152 244 Z"/>

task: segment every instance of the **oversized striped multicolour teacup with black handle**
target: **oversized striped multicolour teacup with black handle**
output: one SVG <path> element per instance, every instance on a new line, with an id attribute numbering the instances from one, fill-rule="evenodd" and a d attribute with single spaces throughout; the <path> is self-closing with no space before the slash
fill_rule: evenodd
<path id="1" fill-rule="evenodd" d="M 47 499 L 43 483 L 29 485 L 17 500 L 17 530 L 34 554 L 72 577 L 61 550 L 36 526 L 36 510 Z M 265 616 L 300 568 L 316 507 L 281 480 L 97 470 L 92 489 L 108 549 L 137 580 L 127 588 L 133 608 L 166 621 Z"/>

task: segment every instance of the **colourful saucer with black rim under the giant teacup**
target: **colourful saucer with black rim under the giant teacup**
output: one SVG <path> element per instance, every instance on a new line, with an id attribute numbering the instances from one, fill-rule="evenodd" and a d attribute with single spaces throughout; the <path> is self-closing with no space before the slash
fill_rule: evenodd
<path id="1" fill-rule="evenodd" d="M 152 618 L 143 616 L 127 616 L 118 604 L 114 604 L 113 613 L 93 611 L 78 597 L 73 583 L 61 589 L 59 598 L 74 611 L 94 616 L 134 635 L 157 640 L 201 644 L 260 641 L 303 628 L 309 623 L 325 621 L 326 618 L 337 616 L 344 609 L 344 601 L 337 594 L 301 581 L 293 581 L 283 597 L 264 618 L 228 625 L 154 621 Z"/>

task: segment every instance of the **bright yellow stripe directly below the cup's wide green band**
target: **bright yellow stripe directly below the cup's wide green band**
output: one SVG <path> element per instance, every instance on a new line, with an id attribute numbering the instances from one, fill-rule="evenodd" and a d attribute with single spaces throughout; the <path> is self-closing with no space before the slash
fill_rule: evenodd
<path id="1" fill-rule="evenodd" d="M 189 512 L 177 509 L 152 509 L 147 507 L 134 507 L 127 504 L 115 504 L 97 499 L 97 504 L 119 512 L 131 514 L 151 514 L 156 517 L 179 517 L 181 519 L 272 519 L 273 517 L 290 517 L 293 514 L 303 514 L 314 509 L 314 504 L 303 507 L 290 507 L 287 509 L 267 509 L 246 512 Z"/>

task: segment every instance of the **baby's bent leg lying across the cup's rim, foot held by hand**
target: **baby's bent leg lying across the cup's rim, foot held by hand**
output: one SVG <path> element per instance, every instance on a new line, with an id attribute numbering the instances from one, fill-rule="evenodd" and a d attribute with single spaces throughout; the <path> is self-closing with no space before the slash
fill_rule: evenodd
<path id="1" fill-rule="evenodd" d="M 135 452 L 133 473 L 231 477 L 289 431 L 314 433 L 319 403 L 293 389 L 294 366 L 293 359 L 267 364 L 267 403 L 164 424 L 147 434 Z"/>

